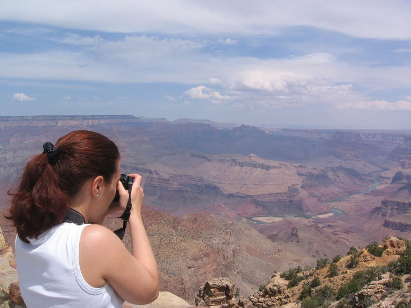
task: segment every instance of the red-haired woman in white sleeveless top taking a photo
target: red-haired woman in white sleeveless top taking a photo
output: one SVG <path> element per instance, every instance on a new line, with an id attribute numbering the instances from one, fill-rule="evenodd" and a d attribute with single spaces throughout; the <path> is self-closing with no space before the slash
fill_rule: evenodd
<path id="1" fill-rule="evenodd" d="M 107 137 L 78 130 L 58 139 L 26 165 L 9 219 L 27 307 L 122 307 L 158 296 L 158 269 L 141 220 L 141 176 L 131 174 L 131 254 L 104 217 L 125 210 L 120 155 Z M 119 205 L 111 205 L 116 190 Z M 63 222 L 70 211 L 85 223 Z"/>

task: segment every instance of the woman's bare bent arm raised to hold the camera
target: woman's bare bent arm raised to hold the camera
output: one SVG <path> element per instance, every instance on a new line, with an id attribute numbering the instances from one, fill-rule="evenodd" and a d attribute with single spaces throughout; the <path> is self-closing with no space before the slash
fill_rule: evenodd
<path id="1" fill-rule="evenodd" d="M 141 177 L 136 174 L 130 176 L 135 179 L 129 219 L 132 253 L 112 231 L 93 224 L 87 226 L 81 236 L 80 267 L 82 273 L 83 268 L 91 270 L 90 275 L 83 273 L 83 276 L 91 277 L 93 282 L 107 281 L 124 300 L 143 305 L 151 303 L 158 296 L 158 268 L 141 220 Z M 118 190 L 122 203 L 126 195 L 128 198 L 128 193 L 120 186 Z"/>

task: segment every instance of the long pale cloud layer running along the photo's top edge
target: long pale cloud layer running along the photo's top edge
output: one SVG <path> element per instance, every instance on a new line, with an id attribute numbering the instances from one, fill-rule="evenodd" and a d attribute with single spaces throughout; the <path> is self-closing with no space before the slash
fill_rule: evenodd
<path id="1" fill-rule="evenodd" d="M 47 9 L 44 9 L 47 7 Z M 356 37 L 410 39 L 411 3 L 365 1 L 26 0 L 8 1 L 0 19 L 105 32 L 242 33 L 273 35 L 287 26 L 311 26 Z M 57 18 L 58 16 L 58 18 Z M 119 18 L 121 16 L 121 18 Z M 384 22 L 382 22 L 382 18 Z"/>

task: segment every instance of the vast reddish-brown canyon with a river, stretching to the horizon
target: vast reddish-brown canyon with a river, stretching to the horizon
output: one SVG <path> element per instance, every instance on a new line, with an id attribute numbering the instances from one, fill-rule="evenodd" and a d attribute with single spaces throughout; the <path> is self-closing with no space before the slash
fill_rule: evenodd
<path id="1" fill-rule="evenodd" d="M 408 131 L 132 115 L 0 117 L 3 213 L 27 160 L 76 129 L 111 138 L 122 172 L 142 175 L 161 288 L 190 303 L 209 278 L 233 279 L 248 296 L 274 271 L 312 266 L 390 235 L 411 237 Z M 0 223 L 12 245 L 12 226 Z M 119 227 L 115 216 L 105 223 Z"/>

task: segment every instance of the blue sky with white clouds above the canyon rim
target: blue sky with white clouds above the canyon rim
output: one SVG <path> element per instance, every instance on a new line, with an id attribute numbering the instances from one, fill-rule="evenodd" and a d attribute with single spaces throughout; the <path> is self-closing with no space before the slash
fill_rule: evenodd
<path id="1" fill-rule="evenodd" d="M 411 129 L 411 1 L 3 0 L 0 116 Z"/>

